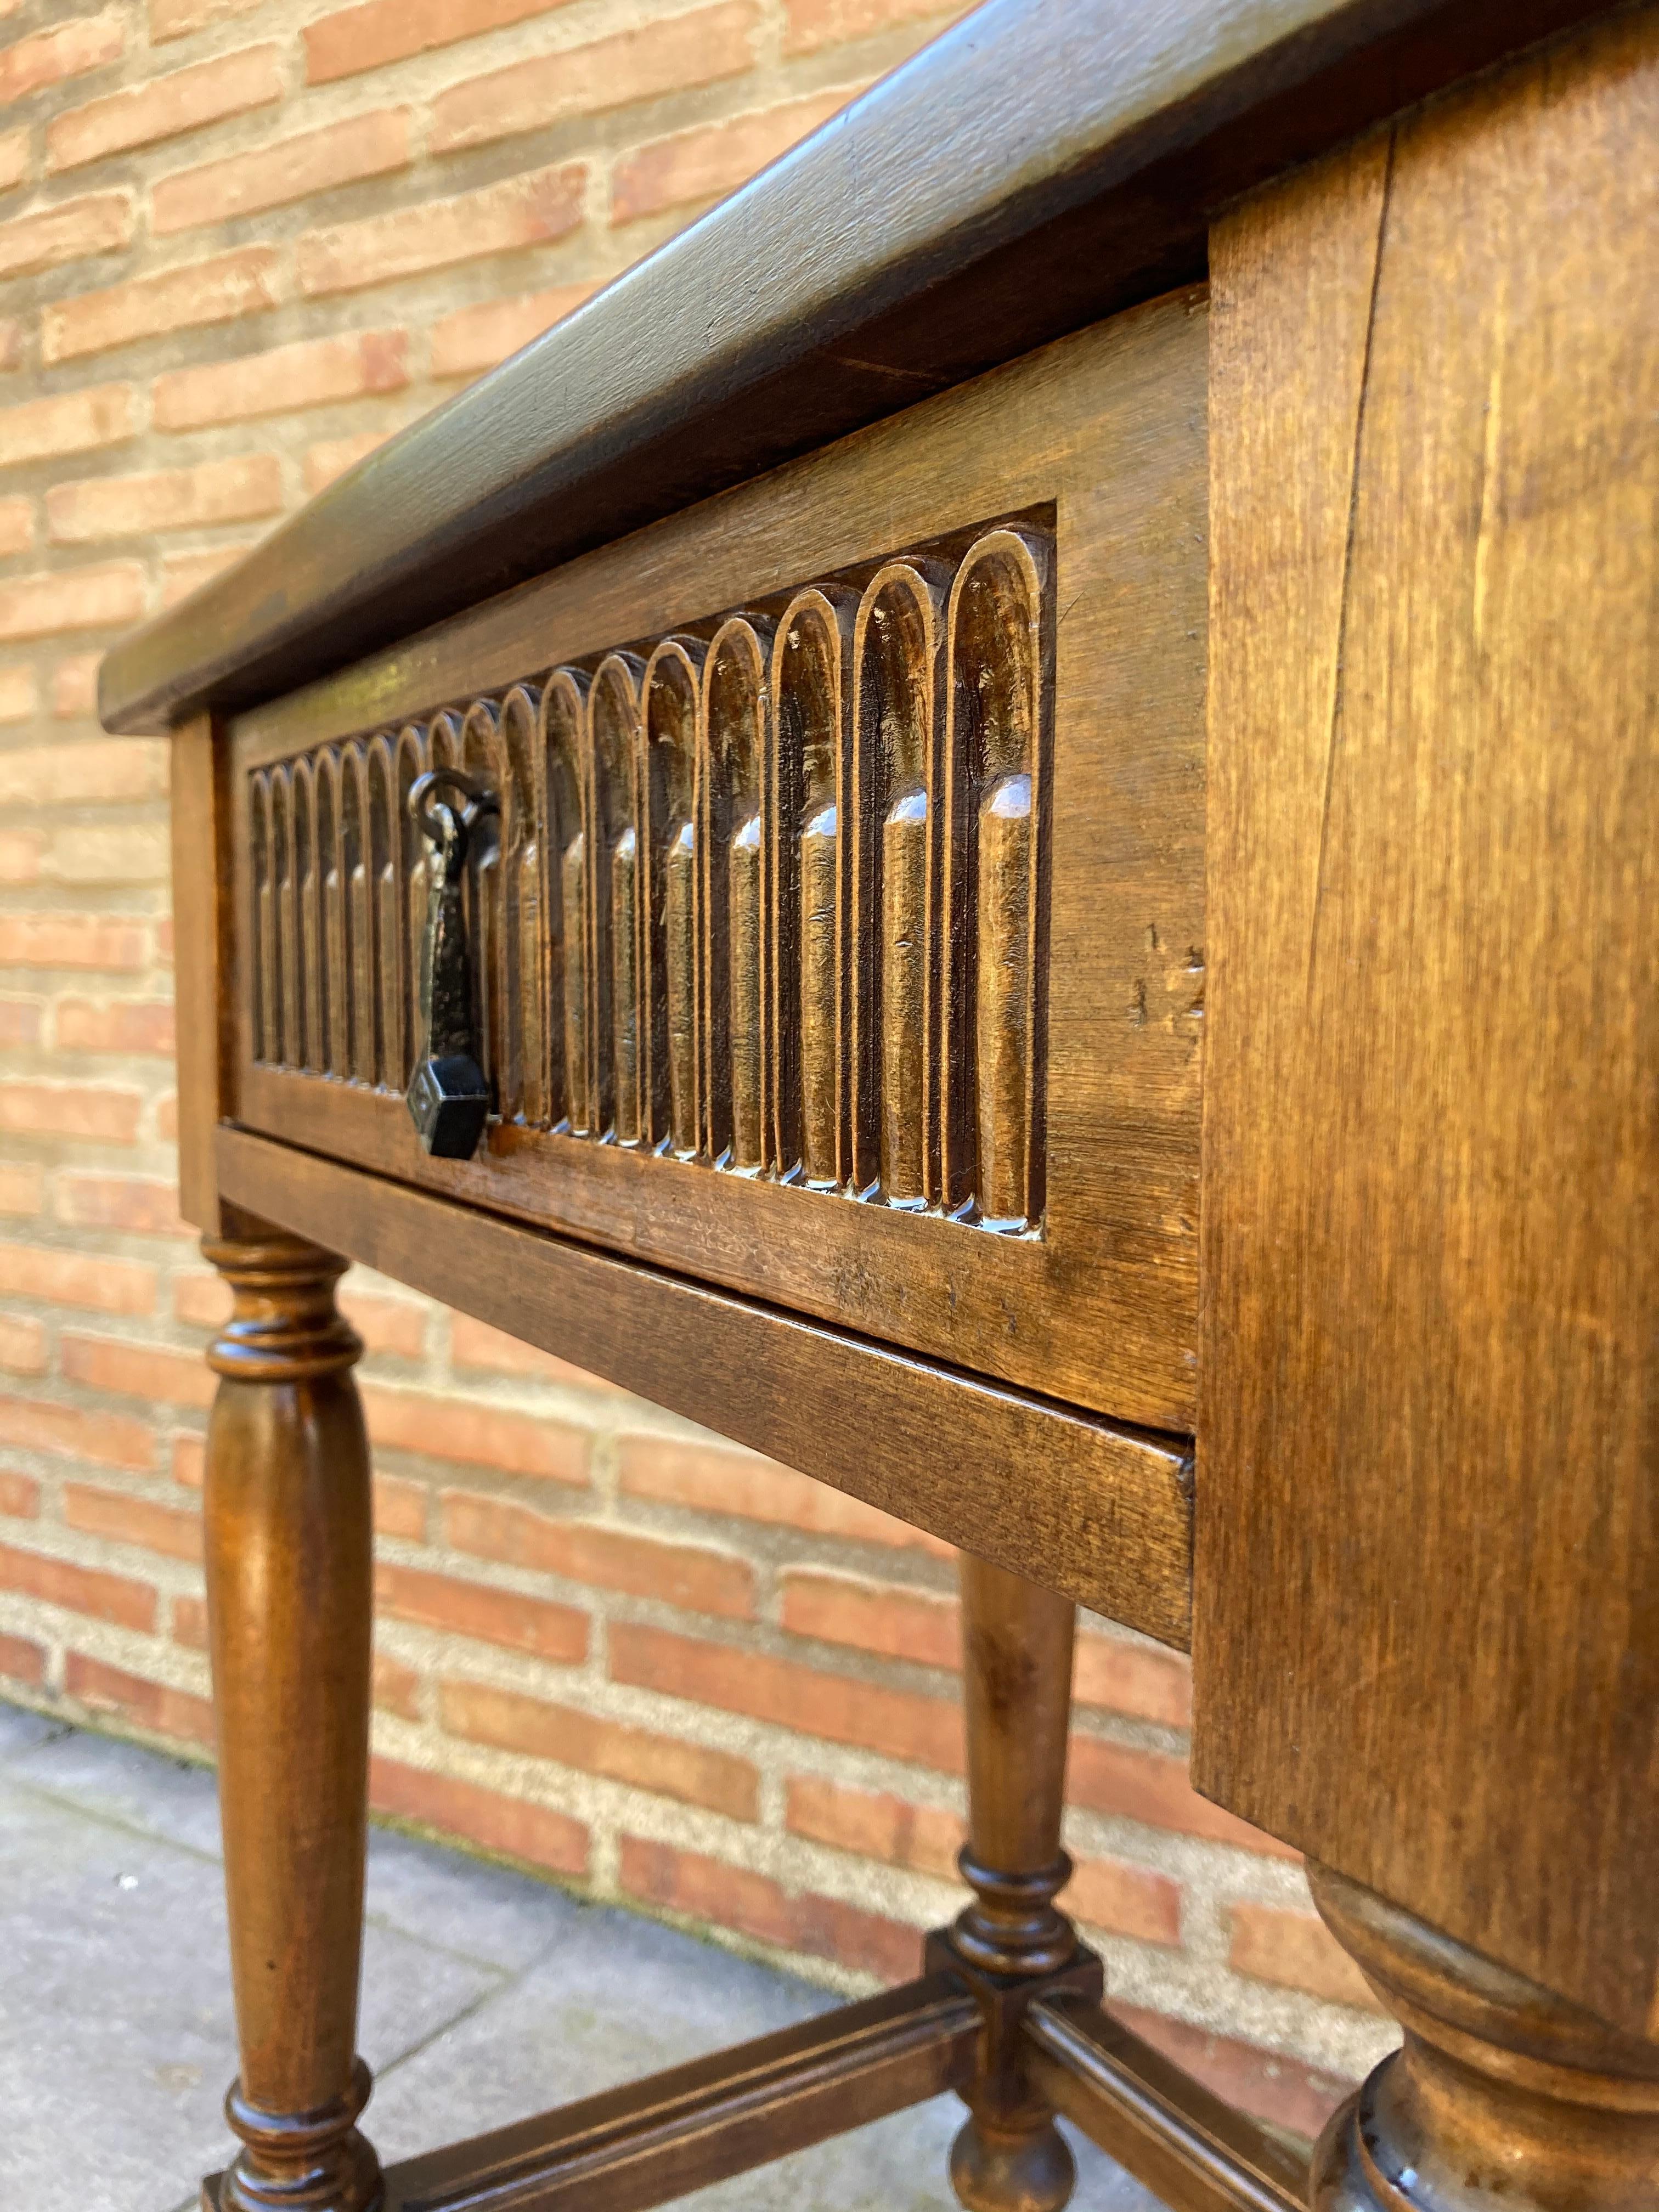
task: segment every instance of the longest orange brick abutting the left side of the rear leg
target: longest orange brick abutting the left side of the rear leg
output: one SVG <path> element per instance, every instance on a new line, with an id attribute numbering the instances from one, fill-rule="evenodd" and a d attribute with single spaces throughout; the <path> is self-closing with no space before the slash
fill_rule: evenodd
<path id="1" fill-rule="evenodd" d="M 611 1624 L 611 1679 L 661 1690 L 752 1721 L 794 1728 L 830 1743 L 856 1743 L 887 1759 L 960 1772 L 962 1712 L 938 1697 L 821 1674 L 794 1659 L 701 1644 L 666 1628 Z"/>

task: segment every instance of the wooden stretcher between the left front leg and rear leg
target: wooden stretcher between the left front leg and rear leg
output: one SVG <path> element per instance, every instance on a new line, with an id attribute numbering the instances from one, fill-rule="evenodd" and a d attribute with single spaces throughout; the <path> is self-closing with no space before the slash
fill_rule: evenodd
<path id="1" fill-rule="evenodd" d="M 953 1973 L 387 2168 L 383 2212 L 646 2212 L 951 2088 L 980 2008 Z M 217 2208 L 217 2199 L 212 2205 Z"/>

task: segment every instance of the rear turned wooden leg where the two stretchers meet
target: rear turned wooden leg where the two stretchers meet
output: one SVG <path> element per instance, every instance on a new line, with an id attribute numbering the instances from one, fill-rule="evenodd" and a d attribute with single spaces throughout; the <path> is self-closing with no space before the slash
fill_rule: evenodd
<path id="1" fill-rule="evenodd" d="M 1077 2170 L 1053 2110 L 1022 2064 L 1020 1984 L 1077 1955 L 1055 1909 L 1071 1860 L 1060 1849 L 1071 1721 L 1075 1606 L 962 1553 L 969 1840 L 973 1902 L 951 1947 L 982 1991 L 987 2048 L 969 2121 L 951 2148 L 951 2185 L 969 2212 L 1057 2212 Z M 1086 1964 L 1084 1978 L 1097 1971 Z"/>

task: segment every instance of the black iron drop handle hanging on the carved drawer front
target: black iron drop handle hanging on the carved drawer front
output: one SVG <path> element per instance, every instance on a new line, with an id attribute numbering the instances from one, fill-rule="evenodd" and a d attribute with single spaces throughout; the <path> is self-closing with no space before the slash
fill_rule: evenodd
<path id="1" fill-rule="evenodd" d="M 440 796 L 445 792 L 453 796 Z M 409 787 L 409 816 L 431 845 L 431 858 L 420 936 L 420 1057 L 405 1097 L 420 1146 L 434 1159 L 471 1159 L 489 1121 L 465 889 L 471 834 L 498 807 L 495 794 L 458 768 L 434 768 Z"/>

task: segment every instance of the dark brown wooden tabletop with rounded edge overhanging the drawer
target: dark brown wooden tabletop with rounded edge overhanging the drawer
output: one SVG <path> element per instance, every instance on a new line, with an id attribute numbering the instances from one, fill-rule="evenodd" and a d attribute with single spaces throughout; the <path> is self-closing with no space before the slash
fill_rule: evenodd
<path id="1" fill-rule="evenodd" d="M 124 639 L 104 721 L 290 690 L 1201 276 L 1237 192 L 1593 7 L 991 0 Z"/>

